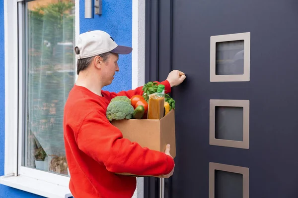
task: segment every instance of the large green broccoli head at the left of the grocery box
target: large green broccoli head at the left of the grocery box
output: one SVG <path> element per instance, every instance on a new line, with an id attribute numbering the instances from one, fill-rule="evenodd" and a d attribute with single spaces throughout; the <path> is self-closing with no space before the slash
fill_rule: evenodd
<path id="1" fill-rule="evenodd" d="M 107 107 L 106 116 L 112 120 L 131 119 L 134 113 L 134 107 L 126 101 L 111 101 Z"/>

